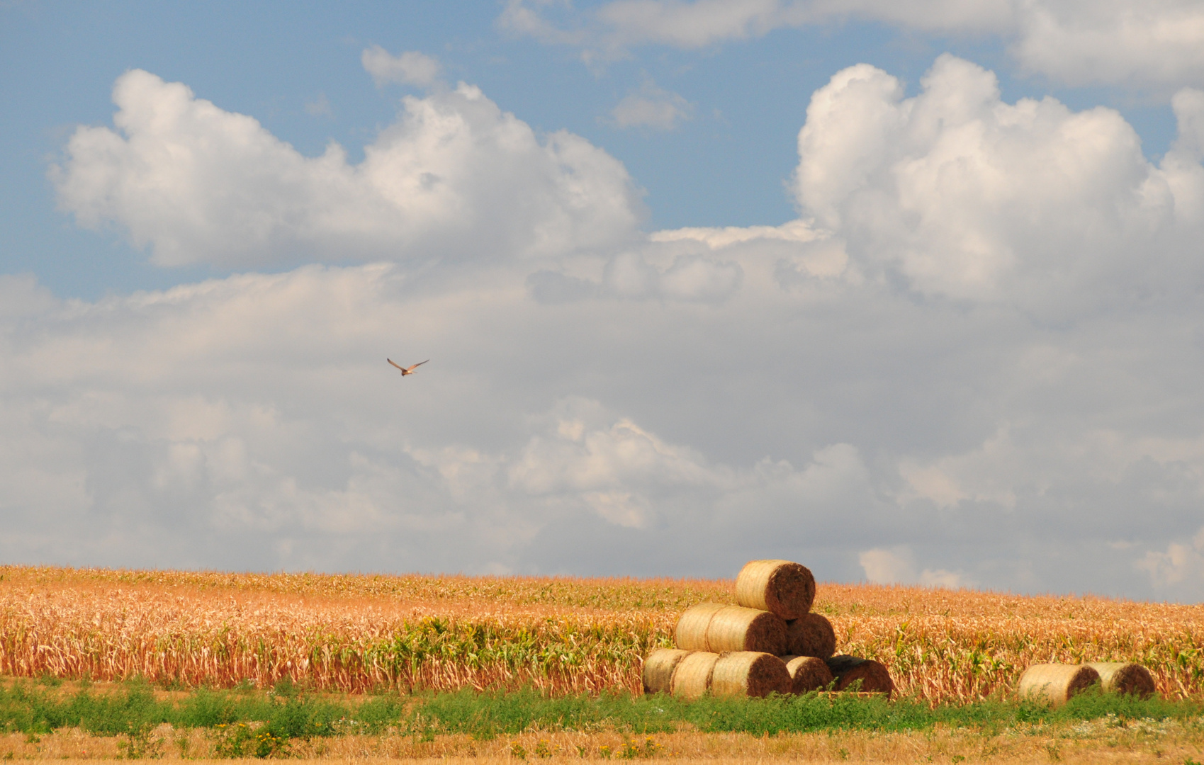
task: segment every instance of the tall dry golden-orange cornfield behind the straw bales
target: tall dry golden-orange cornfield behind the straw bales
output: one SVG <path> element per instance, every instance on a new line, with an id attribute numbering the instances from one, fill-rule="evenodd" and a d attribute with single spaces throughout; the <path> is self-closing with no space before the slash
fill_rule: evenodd
<path id="1" fill-rule="evenodd" d="M 641 690 L 678 615 L 731 580 L 220 574 L 0 567 L 0 674 L 164 687 Z M 1204 699 L 1204 606 L 821 583 L 839 652 L 903 694 L 1010 693 L 1040 662 L 1140 662 Z"/>

